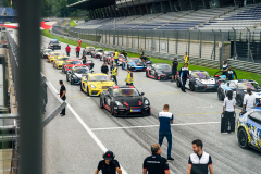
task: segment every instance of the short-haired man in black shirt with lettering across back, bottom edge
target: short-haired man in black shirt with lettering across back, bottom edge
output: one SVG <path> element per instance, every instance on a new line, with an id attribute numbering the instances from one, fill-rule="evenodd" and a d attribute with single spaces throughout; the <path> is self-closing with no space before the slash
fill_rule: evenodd
<path id="1" fill-rule="evenodd" d="M 151 146 L 152 156 L 144 161 L 144 173 L 147 174 L 171 174 L 169 163 L 165 158 L 161 157 L 161 147 L 159 144 Z"/>

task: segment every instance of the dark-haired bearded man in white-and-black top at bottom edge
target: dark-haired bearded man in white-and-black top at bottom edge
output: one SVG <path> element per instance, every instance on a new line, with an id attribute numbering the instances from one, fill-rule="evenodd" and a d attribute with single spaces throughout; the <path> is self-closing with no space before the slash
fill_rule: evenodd
<path id="1" fill-rule="evenodd" d="M 187 174 L 214 174 L 211 156 L 203 150 L 203 142 L 199 139 L 192 141 L 194 153 L 189 156 Z"/>

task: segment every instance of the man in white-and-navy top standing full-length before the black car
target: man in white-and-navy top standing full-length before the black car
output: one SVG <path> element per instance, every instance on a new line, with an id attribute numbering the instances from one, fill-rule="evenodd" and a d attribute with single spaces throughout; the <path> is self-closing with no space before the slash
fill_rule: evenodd
<path id="1" fill-rule="evenodd" d="M 172 150 L 172 132 L 171 132 L 171 124 L 173 124 L 173 113 L 169 112 L 170 105 L 165 104 L 163 107 L 163 112 L 160 112 L 158 115 L 160 122 L 160 129 L 159 129 L 159 144 L 160 146 L 163 142 L 164 137 L 167 140 L 167 160 L 173 161 L 174 159 L 171 157 Z"/>

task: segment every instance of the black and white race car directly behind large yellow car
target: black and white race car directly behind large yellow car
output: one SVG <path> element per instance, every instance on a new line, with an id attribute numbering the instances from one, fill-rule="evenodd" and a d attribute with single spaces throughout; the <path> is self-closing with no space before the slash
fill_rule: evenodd
<path id="1" fill-rule="evenodd" d="M 86 76 L 87 74 L 91 73 L 88 67 L 86 66 L 73 66 L 66 73 L 66 80 L 73 84 L 80 84 L 82 77 Z"/>

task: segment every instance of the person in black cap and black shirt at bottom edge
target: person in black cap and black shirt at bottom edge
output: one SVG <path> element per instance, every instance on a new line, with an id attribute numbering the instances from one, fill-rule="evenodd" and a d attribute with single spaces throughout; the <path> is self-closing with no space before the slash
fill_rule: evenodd
<path id="1" fill-rule="evenodd" d="M 122 170 L 121 166 L 117 162 L 117 160 L 114 160 L 115 156 L 113 154 L 112 151 L 107 151 L 103 154 L 103 159 L 101 160 L 98 164 L 98 167 L 95 172 L 95 174 L 98 174 L 99 171 L 102 172 L 102 174 L 116 174 L 116 172 L 119 174 L 122 174 Z"/>

